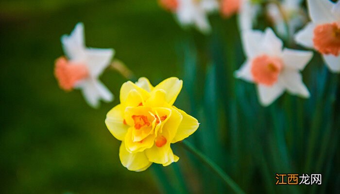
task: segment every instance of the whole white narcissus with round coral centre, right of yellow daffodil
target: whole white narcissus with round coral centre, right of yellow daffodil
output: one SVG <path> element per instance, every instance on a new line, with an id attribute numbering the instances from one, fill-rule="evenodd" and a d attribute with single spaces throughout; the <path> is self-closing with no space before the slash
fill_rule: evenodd
<path id="1" fill-rule="evenodd" d="M 242 32 L 242 43 L 247 60 L 235 75 L 257 84 L 258 97 L 263 106 L 270 105 L 285 90 L 309 97 L 299 71 L 312 58 L 311 51 L 282 50 L 282 41 L 269 28 L 265 32 Z"/>

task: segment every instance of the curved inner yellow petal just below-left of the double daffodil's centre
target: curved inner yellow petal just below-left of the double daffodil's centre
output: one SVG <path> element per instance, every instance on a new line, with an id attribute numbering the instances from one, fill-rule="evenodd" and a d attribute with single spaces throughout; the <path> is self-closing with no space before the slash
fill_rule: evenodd
<path id="1" fill-rule="evenodd" d="M 125 148 L 130 153 L 142 152 L 147 148 L 150 148 L 154 144 L 154 135 L 151 134 L 144 138 L 141 142 L 134 142 L 132 136 L 132 130 L 136 130 L 135 128 L 129 128 L 128 132 L 125 135 Z"/>

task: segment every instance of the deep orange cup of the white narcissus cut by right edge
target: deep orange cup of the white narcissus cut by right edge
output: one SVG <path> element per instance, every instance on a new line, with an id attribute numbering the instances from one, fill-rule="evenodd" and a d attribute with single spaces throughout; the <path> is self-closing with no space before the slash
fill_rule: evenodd
<path id="1" fill-rule="evenodd" d="M 314 29 L 313 43 L 322 54 L 340 54 L 340 23 L 318 25 Z"/>

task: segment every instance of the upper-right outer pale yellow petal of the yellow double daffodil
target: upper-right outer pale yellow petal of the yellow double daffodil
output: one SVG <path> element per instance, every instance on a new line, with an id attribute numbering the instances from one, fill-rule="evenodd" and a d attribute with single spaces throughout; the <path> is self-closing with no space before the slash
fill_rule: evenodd
<path id="1" fill-rule="evenodd" d="M 172 105 L 175 102 L 178 94 L 181 92 L 182 84 L 183 84 L 182 80 L 172 77 L 160 82 L 158 85 L 154 87 L 153 91 L 159 89 L 164 90 L 166 92 L 165 100 L 170 105 Z"/>

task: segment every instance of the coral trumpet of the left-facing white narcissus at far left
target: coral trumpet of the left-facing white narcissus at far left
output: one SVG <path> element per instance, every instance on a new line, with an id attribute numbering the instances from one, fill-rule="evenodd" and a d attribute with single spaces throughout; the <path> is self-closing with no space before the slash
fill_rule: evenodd
<path id="1" fill-rule="evenodd" d="M 54 75 L 59 86 L 64 90 L 72 90 L 78 81 L 89 76 L 86 65 L 69 62 L 65 57 L 55 61 Z"/>

